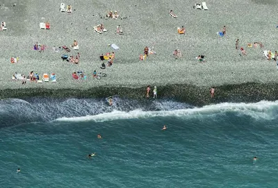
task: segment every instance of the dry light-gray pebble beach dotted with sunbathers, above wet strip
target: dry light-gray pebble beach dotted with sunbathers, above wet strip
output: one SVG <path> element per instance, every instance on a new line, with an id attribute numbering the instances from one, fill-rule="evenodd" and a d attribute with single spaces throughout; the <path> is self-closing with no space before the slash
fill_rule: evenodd
<path id="1" fill-rule="evenodd" d="M 195 2 L 191 0 L 62 2 L 72 5 L 72 14 L 60 12 L 61 1 L 58 0 L 0 1 L 0 21 L 5 21 L 8 28 L 8 31 L 0 31 L 1 89 L 85 89 L 99 85 L 138 87 L 175 83 L 209 87 L 278 80 L 276 64 L 263 58 L 263 49 L 247 48 L 247 42 L 263 42 L 264 49 L 278 49 L 275 0 L 210 0 L 206 2 L 207 11 L 193 9 Z M 117 10 L 120 18 L 104 19 L 108 10 Z M 174 10 L 176 19 L 168 15 L 170 10 Z M 50 22 L 51 29 L 40 30 L 40 22 L 46 21 Z M 93 31 L 93 26 L 100 23 L 108 32 L 99 35 Z M 115 35 L 117 25 L 122 26 L 124 35 Z M 180 26 L 185 26 L 186 35 L 177 34 Z M 227 26 L 227 36 L 220 38 L 216 33 L 223 26 Z M 235 50 L 237 38 L 247 56 L 240 57 Z M 70 46 L 74 40 L 79 42 L 79 65 L 63 62 L 60 59 L 63 52 L 55 53 L 51 49 Z M 32 50 L 35 42 L 47 45 L 44 53 Z M 103 71 L 108 77 L 93 79 L 92 71 L 101 71 L 99 54 L 111 52 L 108 44 L 113 43 L 120 46 L 120 50 L 116 51 L 113 67 Z M 145 46 L 154 46 L 157 55 L 140 61 L 139 55 Z M 181 59 L 174 60 L 174 49 L 181 50 Z M 206 55 L 206 62 L 195 60 L 201 54 Z M 11 64 L 11 56 L 19 56 L 19 62 Z M 73 80 L 72 72 L 79 70 L 85 71 L 88 80 Z M 15 71 L 25 75 L 35 71 L 40 76 L 54 72 L 58 83 L 21 85 L 11 81 Z"/>

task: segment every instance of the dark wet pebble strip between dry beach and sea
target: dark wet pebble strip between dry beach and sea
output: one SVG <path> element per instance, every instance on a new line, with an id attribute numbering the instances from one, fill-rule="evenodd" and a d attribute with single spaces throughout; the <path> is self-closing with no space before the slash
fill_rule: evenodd
<path id="1" fill-rule="evenodd" d="M 158 99 L 174 99 L 190 105 L 203 106 L 213 103 L 254 103 L 259 101 L 278 100 L 278 83 L 243 83 L 238 85 L 220 85 L 215 87 L 215 96 L 211 98 L 210 87 L 197 87 L 195 85 L 156 85 Z M 92 87 L 90 89 L 1 89 L 1 99 L 29 97 L 50 98 L 104 98 L 120 96 L 121 98 L 145 100 L 147 87 Z M 152 87 L 153 89 L 153 87 Z M 152 99 L 152 94 L 150 99 Z"/>

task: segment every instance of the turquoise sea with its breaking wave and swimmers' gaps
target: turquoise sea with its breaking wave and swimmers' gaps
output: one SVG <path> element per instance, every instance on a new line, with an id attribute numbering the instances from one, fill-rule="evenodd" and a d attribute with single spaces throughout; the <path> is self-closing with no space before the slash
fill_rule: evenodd
<path id="1" fill-rule="evenodd" d="M 1 187 L 278 186 L 278 101 L 9 99 L 0 109 Z"/>

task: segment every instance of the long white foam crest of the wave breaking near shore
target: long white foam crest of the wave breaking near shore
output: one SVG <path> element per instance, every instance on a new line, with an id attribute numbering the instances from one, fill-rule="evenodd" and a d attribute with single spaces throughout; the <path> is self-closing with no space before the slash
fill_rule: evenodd
<path id="1" fill-rule="evenodd" d="M 260 101 L 259 103 L 220 103 L 206 105 L 202 108 L 187 108 L 181 110 L 143 111 L 132 110 L 122 112 L 114 110 L 85 117 L 62 117 L 56 121 L 112 121 L 115 119 L 140 119 L 148 117 L 197 117 L 199 115 L 210 116 L 226 112 L 235 112 L 238 115 L 249 115 L 252 118 L 273 119 L 277 116 L 278 101 Z"/>

